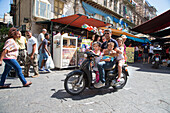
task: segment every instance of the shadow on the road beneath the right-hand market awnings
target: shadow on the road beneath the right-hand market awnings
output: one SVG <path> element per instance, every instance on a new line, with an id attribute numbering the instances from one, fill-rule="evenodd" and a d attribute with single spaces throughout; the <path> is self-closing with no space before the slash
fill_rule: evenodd
<path id="1" fill-rule="evenodd" d="M 137 63 L 128 63 L 129 66 L 138 67 L 136 71 L 143 71 L 143 72 L 154 72 L 154 73 L 164 73 L 170 74 L 170 67 L 160 66 L 158 69 L 154 69 L 152 64 L 142 64 L 142 62 Z"/>

